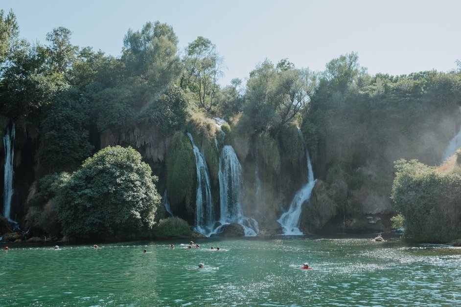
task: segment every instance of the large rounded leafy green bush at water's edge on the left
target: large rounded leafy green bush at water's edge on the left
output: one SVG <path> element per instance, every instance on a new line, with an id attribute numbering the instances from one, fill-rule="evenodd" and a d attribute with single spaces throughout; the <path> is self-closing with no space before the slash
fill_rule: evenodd
<path id="1" fill-rule="evenodd" d="M 70 175 L 55 199 L 63 234 L 82 239 L 147 237 L 161 197 L 157 177 L 131 147 L 107 147 Z"/>

